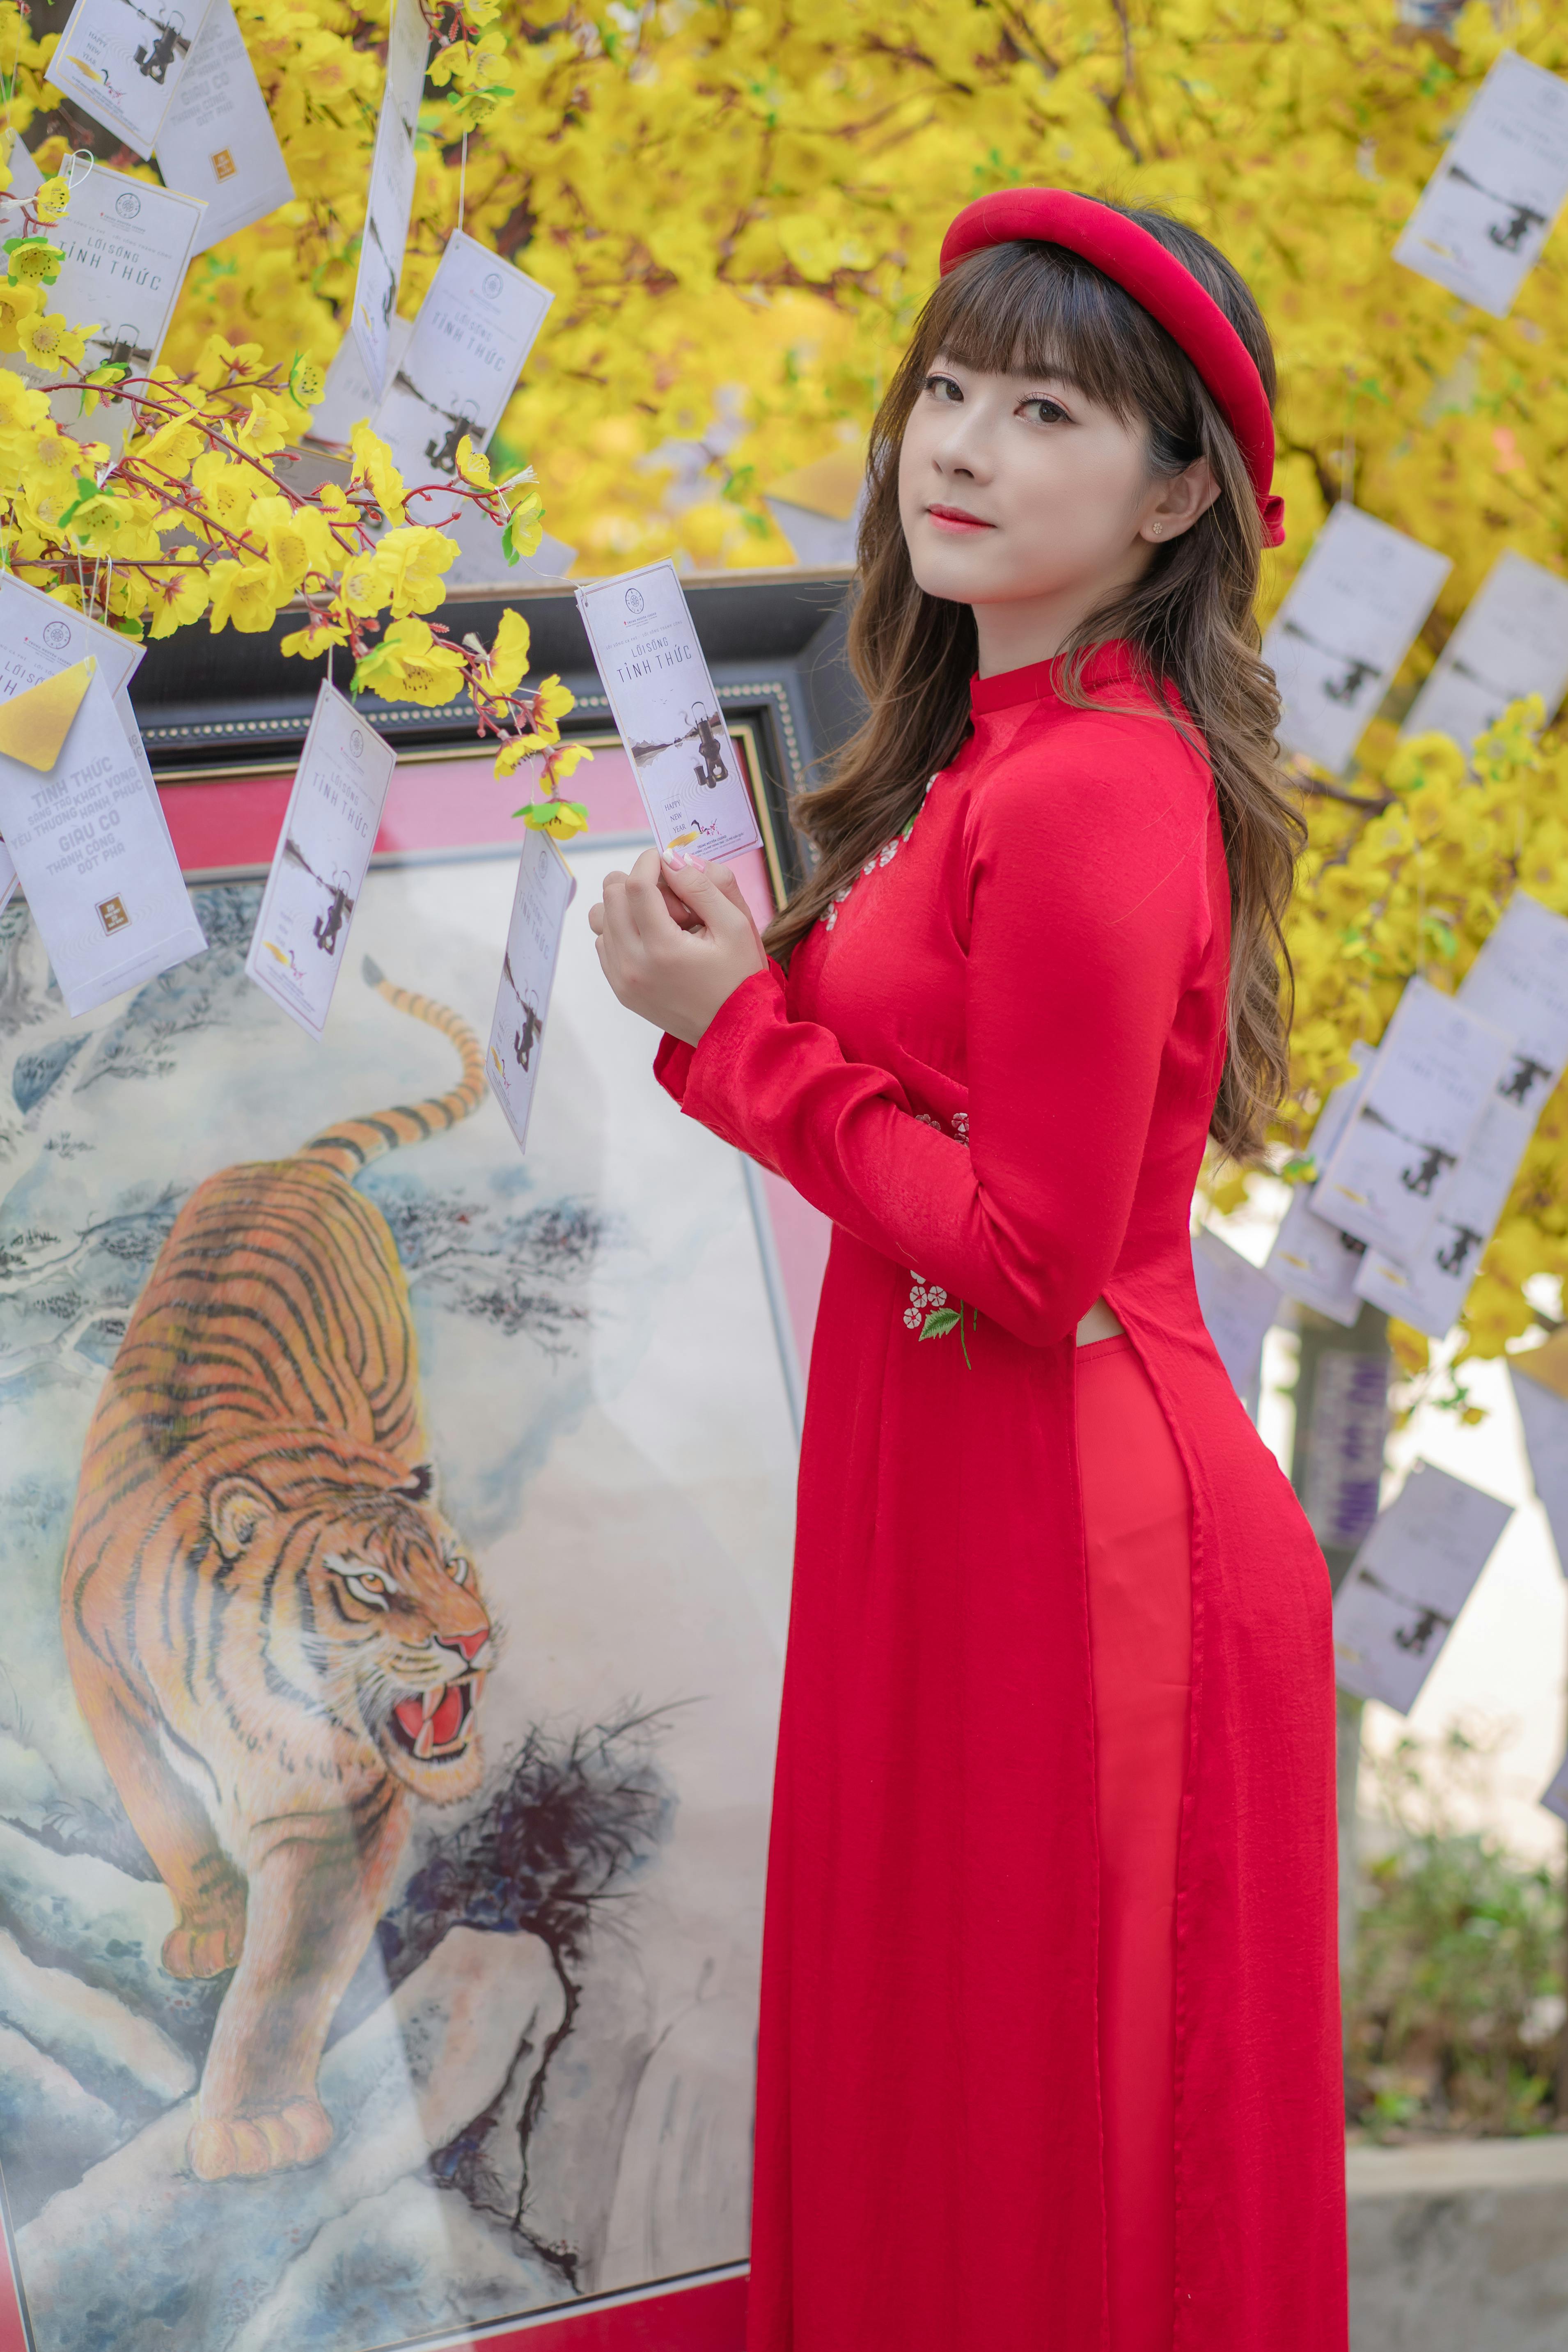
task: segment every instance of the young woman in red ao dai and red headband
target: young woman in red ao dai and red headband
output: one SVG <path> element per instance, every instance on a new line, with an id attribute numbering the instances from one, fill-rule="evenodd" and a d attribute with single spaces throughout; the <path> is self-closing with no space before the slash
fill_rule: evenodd
<path id="1" fill-rule="evenodd" d="M 1272 386 L 1190 228 L 971 205 L 773 960 L 696 861 L 592 910 L 670 1094 L 835 1223 L 752 2352 L 1345 2345 L 1328 1578 L 1190 1251 L 1286 1077 Z"/>

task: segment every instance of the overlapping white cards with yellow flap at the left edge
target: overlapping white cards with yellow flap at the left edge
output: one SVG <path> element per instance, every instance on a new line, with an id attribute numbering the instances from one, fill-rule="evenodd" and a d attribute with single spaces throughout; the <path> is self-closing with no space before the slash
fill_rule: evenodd
<path id="1" fill-rule="evenodd" d="M 118 708 L 139 659 L 132 640 L 0 581 L 0 835 L 73 1014 L 207 946 Z"/>

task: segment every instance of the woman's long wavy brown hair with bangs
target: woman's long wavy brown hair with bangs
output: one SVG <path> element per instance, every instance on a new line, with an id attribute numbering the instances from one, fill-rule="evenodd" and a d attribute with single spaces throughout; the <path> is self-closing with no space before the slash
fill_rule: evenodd
<path id="1" fill-rule="evenodd" d="M 1225 254 L 1161 212 L 1117 209 L 1159 238 L 1220 303 L 1272 405 L 1269 334 Z M 1305 840 L 1279 767 L 1279 694 L 1253 619 L 1258 503 L 1237 440 L 1187 355 L 1119 285 L 1060 245 L 997 245 L 943 278 L 877 412 L 849 626 L 849 659 L 870 713 L 827 783 L 797 802 L 818 861 L 776 915 L 766 946 L 788 962 L 835 891 L 903 833 L 926 781 L 969 729 L 973 612 L 917 588 L 898 520 L 898 447 L 938 353 L 980 372 L 1065 376 L 1124 423 L 1147 426 L 1154 475 L 1206 456 L 1220 485 L 1208 513 L 1157 548 L 1145 576 L 1067 640 L 1060 687 L 1086 708 L 1084 663 L 1095 644 L 1121 637 L 1145 682 L 1175 687 L 1204 736 L 1232 898 L 1229 1033 L 1213 1136 L 1232 1157 L 1255 1155 L 1288 1080 L 1291 960 L 1281 924 Z M 1164 708 L 1164 696 L 1154 699 Z"/>

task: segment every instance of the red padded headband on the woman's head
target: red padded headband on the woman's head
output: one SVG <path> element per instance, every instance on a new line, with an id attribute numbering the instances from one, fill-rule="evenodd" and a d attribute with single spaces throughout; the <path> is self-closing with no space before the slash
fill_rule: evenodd
<path id="1" fill-rule="evenodd" d="M 1001 188 L 966 205 L 943 238 L 943 278 L 969 254 L 1016 238 L 1065 245 L 1093 261 L 1180 343 L 1237 435 L 1258 492 L 1265 546 L 1276 548 L 1286 536 L 1286 501 L 1272 489 L 1274 419 L 1262 376 L 1218 301 L 1147 228 L 1067 188 Z"/>

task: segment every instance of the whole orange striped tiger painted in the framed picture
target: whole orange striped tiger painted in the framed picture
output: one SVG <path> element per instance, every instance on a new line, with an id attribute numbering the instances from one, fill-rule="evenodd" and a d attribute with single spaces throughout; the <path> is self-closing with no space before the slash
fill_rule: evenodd
<path id="1" fill-rule="evenodd" d="M 480 1788 L 494 1628 L 435 1503 L 409 1287 L 355 1176 L 484 1098 L 473 1030 L 425 1103 L 230 1167 L 181 1209 L 82 1456 L 61 1618 L 103 1764 L 174 1898 L 162 1964 L 233 1969 L 186 2161 L 313 2164 L 317 2067 L 407 1837 Z"/>

